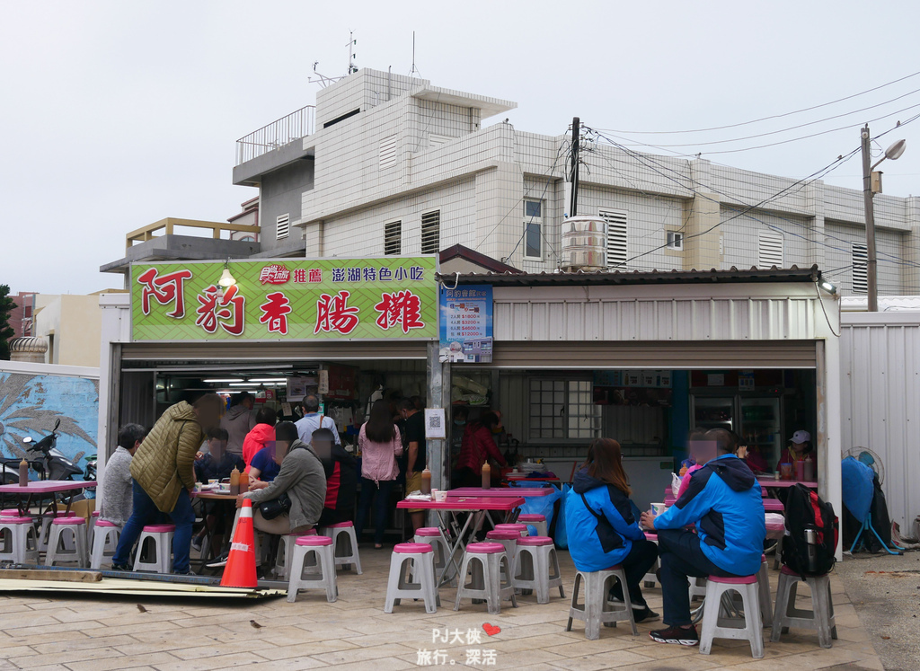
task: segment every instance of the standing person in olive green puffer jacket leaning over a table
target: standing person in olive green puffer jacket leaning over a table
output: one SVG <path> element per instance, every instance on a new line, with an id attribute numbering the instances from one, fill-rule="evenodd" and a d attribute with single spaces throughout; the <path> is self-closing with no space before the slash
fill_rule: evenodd
<path id="1" fill-rule="evenodd" d="M 205 394 L 193 405 L 179 401 L 164 412 L 131 461 L 132 514 L 112 557 L 113 571 L 129 571 L 131 551 L 144 526 L 163 513 L 176 525 L 173 573 L 188 574 L 195 514 L 189 492 L 195 487 L 195 454 L 203 437 L 220 424 L 224 402 Z M 102 474 L 103 479 L 105 473 Z"/>

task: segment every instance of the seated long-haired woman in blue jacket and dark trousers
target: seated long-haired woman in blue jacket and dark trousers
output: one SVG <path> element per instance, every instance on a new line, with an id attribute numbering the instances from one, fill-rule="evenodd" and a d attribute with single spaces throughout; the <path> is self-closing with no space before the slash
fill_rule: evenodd
<path id="1" fill-rule="evenodd" d="M 659 617 L 639 588 L 658 559 L 658 546 L 647 540 L 638 526 L 629 500 L 631 493 L 620 444 L 611 438 L 596 438 L 566 499 L 566 528 L 569 554 L 579 571 L 623 566 L 633 616 L 643 622 Z M 610 598 L 623 601 L 623 585 L 617 582 Z"/>

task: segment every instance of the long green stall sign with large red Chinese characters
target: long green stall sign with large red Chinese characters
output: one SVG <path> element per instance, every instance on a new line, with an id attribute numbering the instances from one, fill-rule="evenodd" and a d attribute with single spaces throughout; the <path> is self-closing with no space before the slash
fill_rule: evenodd
<path id="1" fill-rule="evenodd" d="M 132 265 L 135 341 L 438 337 L 437 257 Z"/>

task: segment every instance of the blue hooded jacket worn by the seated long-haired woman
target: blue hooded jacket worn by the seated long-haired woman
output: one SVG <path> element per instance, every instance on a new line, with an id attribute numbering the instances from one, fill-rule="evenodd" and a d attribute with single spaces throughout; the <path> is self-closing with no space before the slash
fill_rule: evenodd
<path id="1" fill-rule="evenodd" d="M 581 495 L 591 506 L 585 507 Z M 598 518 L 600 515 L 600 519 Z M 579 571 L 603 571 L 623 561 L 632 541 L 645 538 L 627 495 L 582 469 L 566 499 L 569 554 Z"/>

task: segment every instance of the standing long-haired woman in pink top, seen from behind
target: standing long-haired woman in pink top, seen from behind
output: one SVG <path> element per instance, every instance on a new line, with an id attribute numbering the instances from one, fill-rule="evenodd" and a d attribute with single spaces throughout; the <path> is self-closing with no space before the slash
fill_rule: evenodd
<path id="1" fill-rule="evenodd" d="M 361 498 L 354 530 L 361 539 L 374 494 L 379 492 L 374 516 L 374 548 L 379 549 L 384 547 L 386 518 L 393 512 L 390 492 L 399 475 L 397 457 L 402 454 L 402 437 L 385 400 L 375 400 L 371 406 L 371 415 L 358 434 L 358 448 L 361 450 Z"/>

